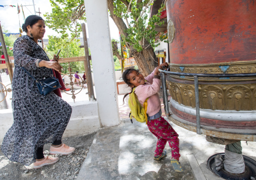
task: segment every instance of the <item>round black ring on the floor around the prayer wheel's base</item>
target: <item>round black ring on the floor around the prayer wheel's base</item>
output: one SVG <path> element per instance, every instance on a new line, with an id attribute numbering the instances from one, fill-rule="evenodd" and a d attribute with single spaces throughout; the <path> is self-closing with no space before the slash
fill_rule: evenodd
<path id="1" fill-rule="evenodd" d="M 207 160 L 207 166 L 208 168 L 214 172 L 216 175 L 224 178 L 224 179 L 228 179 L 228 180 L 251 180 L 250 177 L 256 177 L 256 161 L 253 160 L 252 158 L 249 158 L 245 155 L 243 155 L 243 159 L 244 159 L 244 164 L 245 164 L 245 171 L 241 174 L 232 174 L 227 172 L 224 169 L 220 169 L 219 171 L 217 171 L 215 169 L 215 156 L 217 155 L 222 155 L 222 157 L 224 158 L 225 153 L 218 153 L 218 154 L 214 154 L 211 157 L 209 157 L 209 159 Z"/>

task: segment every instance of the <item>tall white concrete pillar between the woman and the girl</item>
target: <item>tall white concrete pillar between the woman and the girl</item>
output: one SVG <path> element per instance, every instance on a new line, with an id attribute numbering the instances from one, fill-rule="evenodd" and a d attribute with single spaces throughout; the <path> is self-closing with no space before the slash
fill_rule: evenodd
<path id="1" fill-rule="evenodd" d="M 106 0 L 85 0 L 94 84 L 102 126 L 120 122 Z"/>

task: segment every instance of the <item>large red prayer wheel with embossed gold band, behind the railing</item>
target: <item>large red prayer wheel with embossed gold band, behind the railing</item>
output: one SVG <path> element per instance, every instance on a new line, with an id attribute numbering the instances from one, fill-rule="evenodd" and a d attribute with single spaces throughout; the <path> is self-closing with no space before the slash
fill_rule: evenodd
<path id="1" fill-rule="evenodd" d="M 167 0 L 170 71 L 256 73 L 256 3 Z M 166 76 L 169 118 L 196 131 L 194 78 Z M 202 133 L 256 141 L 256 78 L 199 78 Z"/>

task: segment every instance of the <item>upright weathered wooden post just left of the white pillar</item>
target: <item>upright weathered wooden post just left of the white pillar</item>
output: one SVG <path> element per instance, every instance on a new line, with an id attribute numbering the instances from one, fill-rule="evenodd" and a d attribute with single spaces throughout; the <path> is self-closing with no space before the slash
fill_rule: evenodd
<path id="1" fill-rule="evenodd" d="M 86 75 L 86 81 L 87 81 L 87 88 L 88 88 L 88 95 L 89 99 L 95 100 L 94 91 L 93 91 L 93 82 L 92 82 L 92 74 L 91 74 L 91 64 L 90 64 L 90 58 L 89 58 L 89 49 L 88 49 L 88 41 L 87 41 L 87 35 L 86 35 L 86 27 L 85 24 L 82 23 L 82 32 L 83 32 L 83 40 L 84 40 L 84 47 L 85 47 L 85 75 Z"/>

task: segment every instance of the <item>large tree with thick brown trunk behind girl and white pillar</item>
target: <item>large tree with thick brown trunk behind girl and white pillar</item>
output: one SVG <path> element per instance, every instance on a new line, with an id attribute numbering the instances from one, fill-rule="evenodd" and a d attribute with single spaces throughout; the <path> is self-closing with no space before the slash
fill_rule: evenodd
<path id="1" fill-rule="evenodd" d="M 117 26 L 123 44 L 129 49 L 130 55 L 134 57 L 139 70 L 144 76 L 149 75 L 157 66 L 157 58 L 154 53 L 154 47 L 158 46 L 155 42 L 155 25 L 161 26 L 160 11 L 153 17 L 149 17 L 150 7 L 155 0 L 107 0 L 110 17 Z M 70 29 L 73 36 L 78 35 L 81 26 L 77 23 L 79 20 L 85 21 L 83 0 L 51 0 L 52 13 L 46 15 L 47 26 L 57 27 L 56 31 L 66 33 Z M 72 5 L 72 7 L 70 7 Z M 76 5 L 80 8 L 74 8 Z M 60 8 L 63 7 L 63 8 Z M 65 15 L 67 14 L 67 15 Z M 72 18 L 75 24 L 67 23 L 66 17 L 72 17 L 75 14 L 77 18 Z M 63 17 L 63 18 L 62 18 Z M 49 24 L 50 23 L 50 24 Z M 65 25 L 65 26 L 64 26 Z M 51 26 L 49 26 L 51 27 Z M 65 34 L 66 35 L 66 34 Z M 164 40 L 166 37 L 160 37 Z"/>

